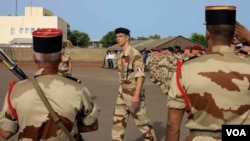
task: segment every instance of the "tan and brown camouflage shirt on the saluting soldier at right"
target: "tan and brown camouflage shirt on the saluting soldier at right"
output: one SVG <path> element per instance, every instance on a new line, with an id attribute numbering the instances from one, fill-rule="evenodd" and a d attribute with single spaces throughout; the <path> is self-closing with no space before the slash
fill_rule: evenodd
<path id="1" fill-rule="evenodd" d="M 222 124 L 250 124 L 249 63 L 235 55 L 229 46 L 214 46 L 212 51 L 187 61 L 181 68 L 180 83 L 191 107 L 185 124 L 193 130 L 188 141 L 221 140 Z M 167 106 L 185 108 L 175 74 Z"/>

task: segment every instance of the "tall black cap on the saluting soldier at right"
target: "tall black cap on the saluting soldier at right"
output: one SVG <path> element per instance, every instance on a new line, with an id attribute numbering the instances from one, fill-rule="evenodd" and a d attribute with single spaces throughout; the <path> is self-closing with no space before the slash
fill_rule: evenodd
<path id="1" fill-rule="evenodd" d="M 206 6 L 205 9 L 206 25 L 235 24 L 235 6 Z"/>

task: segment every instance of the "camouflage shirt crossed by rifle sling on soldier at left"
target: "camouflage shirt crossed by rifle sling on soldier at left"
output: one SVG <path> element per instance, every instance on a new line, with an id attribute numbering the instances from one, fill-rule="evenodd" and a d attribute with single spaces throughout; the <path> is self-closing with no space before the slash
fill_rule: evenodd
<path id="1" fill-rule="evenodd" d="M 76 118 L 81 115 L 85 125 L 97 119 L 99 109 L 91 100 L 86 87 L 60 75 L 43 75 L 43 69 L 36 73 L 36 79 L 51 106 L 72 135 L 77 134 Z M 12 133 L 19 132 L 19 140 L 67 141 L 67 135 L 57 126 L 40 99 L 32 82 L 23 80 L 14 85 L 10 102 L 17 118 L 10 111 L 7 96 L 0 115 L 0 127 Z"/>

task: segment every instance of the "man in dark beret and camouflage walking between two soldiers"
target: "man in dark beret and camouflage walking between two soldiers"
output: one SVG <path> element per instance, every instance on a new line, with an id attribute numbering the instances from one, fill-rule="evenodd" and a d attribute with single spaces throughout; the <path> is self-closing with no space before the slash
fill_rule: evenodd
<path id="1" fill-rule="evenodd" d="M 122 141 L 129 115 L 135 120 L 145 141 L 156 141 L 145 107 L 143 82 L 145 78 L 142 55 L 129 45 L 130 34 L 126 28 L 115 29 L 116 40 L 122 48 L 118 60 L 120 87 L 113 113 L 112 140 Z"/>

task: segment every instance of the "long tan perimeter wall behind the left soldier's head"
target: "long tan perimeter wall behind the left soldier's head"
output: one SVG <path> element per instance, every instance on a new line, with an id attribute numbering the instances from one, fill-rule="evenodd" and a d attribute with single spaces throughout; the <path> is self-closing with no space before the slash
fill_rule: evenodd
<path id="1" fill-rule="evenodd" d="M 33 61 L 32 48 L 0 47 L 13 61 Z M 76 62 L 102 62 L 106 48 L 67 48 L 66 53 Z"/>

